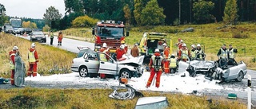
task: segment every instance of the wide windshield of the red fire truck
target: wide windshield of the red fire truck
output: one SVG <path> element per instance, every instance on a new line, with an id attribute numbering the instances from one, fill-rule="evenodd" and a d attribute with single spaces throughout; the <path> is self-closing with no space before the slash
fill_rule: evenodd
<path id="1" fill-rule="evenodd" d="M 98 35 L 102 37 L 123 37 L 123 28 L 116 27 L 98 27 Z"/>

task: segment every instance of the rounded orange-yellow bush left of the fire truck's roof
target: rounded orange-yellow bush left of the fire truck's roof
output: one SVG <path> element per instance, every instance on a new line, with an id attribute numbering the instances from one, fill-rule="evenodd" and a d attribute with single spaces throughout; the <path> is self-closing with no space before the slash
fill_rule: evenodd
<path id="1" fill-rule="evenodd" d="M 73 27 L 91 27 L 97 23 L 98 19 L 90 18 L 89 16 L 82 16 L 75 18 L 74 21 L 72 21 Z"/>

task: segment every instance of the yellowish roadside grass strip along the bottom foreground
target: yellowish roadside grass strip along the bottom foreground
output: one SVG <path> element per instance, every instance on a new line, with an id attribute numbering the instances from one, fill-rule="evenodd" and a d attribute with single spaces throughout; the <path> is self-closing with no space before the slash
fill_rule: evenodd
<path id="1" fill-rule="evenodd" d="M 110 89 L 43 89 L 13 88 L 0 90 L 0 108 L 73 108 L 73 109 L 130 109 L 134 108 L 138 97 L 128 100 L 110 99 Z M 232 108 L 246 109 L 240 99 L 212 99 L 207 96 L 182 95 L 170 92 L 142 91 L 144 96 L 166 96 L 170 109 L 185 108 Z"/>

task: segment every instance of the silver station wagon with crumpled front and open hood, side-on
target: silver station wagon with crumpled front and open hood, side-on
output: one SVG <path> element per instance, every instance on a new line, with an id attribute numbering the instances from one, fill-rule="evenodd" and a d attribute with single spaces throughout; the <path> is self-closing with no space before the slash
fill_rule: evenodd
<path id="1" fill-rule="evenodd" d="M 123 78 L 139 77 L 143 73 L 141 67 L 143 59 L 144 56 L 140 56 L 129 60 L 115 61 L 106 53 L 88 50 L 81 57 L 73 59 L 71 70 L 78 72 L 82 77 L 98 76 L 99 74 Z"/>

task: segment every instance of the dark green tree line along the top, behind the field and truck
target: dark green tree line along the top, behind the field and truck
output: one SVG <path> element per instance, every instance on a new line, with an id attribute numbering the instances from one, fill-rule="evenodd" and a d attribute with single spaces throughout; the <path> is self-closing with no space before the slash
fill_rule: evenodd
<path id="1" fill-rule="evenodd" d="M 66 13 L 54 6 L 44 20 L 52 29 L 67 29 L 81 16 L 124 21 L 129 25 L 182 25 L 255 21 L 255 0 L 64 0 Z"/>

